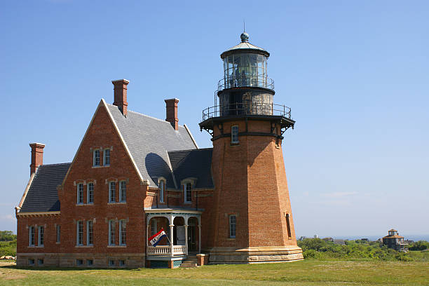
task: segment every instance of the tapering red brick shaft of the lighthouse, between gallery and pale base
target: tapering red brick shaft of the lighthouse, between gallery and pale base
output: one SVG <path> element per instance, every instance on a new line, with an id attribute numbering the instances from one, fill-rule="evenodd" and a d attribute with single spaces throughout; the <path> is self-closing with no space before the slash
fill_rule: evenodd
<path id="1" fill-rule="evenodd" d="M 224 133 L 244 121 L 224 123 Z M 248 121 L 248 132 L 271 132 L 269 121 Z M 218 128 L 214 136 L 220 135 Z M 281 142 L 275 137 L 240 136 L 213 142 L 212 172 L 215 182 L 214 212 L 207 245 L 216 247 L 256 247 L 297 245 Z M 229 238 L 229 214 L 237 215 L 236 238 Z M 290 214 L 291 237 L 285 214 Z"/>

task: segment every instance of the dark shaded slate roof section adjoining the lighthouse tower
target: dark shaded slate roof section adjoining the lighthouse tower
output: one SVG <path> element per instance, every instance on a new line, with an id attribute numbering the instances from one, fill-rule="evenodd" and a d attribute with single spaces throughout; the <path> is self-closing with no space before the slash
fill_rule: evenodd
<path id="1" fill-rule="evenodd" d="M 196 178 L 196 188 L 213 188 L 212 148 L 170 151 L 168 156 L 179 186 L 182 179 Z"/>

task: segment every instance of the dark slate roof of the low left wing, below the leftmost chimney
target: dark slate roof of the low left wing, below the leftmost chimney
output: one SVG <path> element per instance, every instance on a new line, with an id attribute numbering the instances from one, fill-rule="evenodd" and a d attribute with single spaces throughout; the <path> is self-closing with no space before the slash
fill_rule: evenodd
<path id="1" fill-rule="evenodd" d="M 60 210 L 57 185 L 62 184 L 71 163 L 41 165 L 36 170 L 32 185 L 22 203 L 20 212 L 55 212 Z"/>

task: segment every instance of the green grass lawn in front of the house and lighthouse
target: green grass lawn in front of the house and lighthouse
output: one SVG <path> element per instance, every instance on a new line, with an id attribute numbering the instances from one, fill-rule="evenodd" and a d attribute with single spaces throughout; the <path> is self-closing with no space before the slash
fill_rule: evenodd
<path id="1" fill-rule="evenodd" d="M 429 285 L 429 262 L 318 261 L 177 269 L 17 268 L 0 285 Z"/>

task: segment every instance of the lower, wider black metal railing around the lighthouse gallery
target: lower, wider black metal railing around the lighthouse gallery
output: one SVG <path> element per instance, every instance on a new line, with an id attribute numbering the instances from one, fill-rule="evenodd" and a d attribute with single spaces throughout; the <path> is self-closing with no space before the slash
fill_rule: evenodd
<path id="1" fill-rule="evenodd" d="M 203 121 L 219 116 L 275 115 L 291 118 L 290 107 L 273 103 L 233 103 L 207 107 L 203 110 Z"/>

